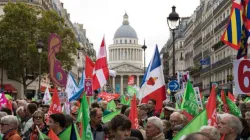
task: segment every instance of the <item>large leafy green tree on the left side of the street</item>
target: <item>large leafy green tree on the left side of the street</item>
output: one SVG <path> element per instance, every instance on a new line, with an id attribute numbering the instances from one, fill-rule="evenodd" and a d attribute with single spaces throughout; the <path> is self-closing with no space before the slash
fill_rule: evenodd
<path id="1" fill-rule="evenodd" d="M 0 22 L 0 49 L 6 62 L 3 67 L 9 79 L 23 85 L 24 93 L 39 75 L 38 40 L 42 40 L 45 45 L 41 54 L 41 72 L 48 73 L 47 42 L 51 33 L 57 33 L 62 39 L 58 60 L 65 70 L 71 69 L 74 62 L 72 55 L 76 54 L 79 44 L 72 30 L 65 27 L 63 18 L 55 11 L 43 11 L 18 2 L 8 3 L 4 13 Z"/>

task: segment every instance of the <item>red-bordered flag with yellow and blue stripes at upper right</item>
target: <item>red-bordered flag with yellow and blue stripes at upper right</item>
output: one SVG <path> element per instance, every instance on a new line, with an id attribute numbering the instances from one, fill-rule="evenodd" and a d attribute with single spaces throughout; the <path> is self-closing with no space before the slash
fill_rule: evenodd
<path id="1" fill-rule="evenodd" d="M 234 0 L 231 9 L 230 20 L 221 40 L 235 50 L 239 50 L 241 41 L 241 32 L 243 25 L 243 7 L 241 0 Z"/>

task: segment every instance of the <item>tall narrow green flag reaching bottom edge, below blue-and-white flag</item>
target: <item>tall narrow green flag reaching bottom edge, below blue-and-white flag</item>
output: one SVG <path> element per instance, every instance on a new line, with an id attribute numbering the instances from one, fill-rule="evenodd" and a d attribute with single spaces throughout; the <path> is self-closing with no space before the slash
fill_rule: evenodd
<path id="1" fill-rule="evenodd" d="M 93 136 L 92 136 L 91 127 L 89 124 L 89 121 L 90 121 L 89 105 L 88 105 L 88 101 L 86 98 L 86 94 L 83 95 L 81 106 L 82 106 L 81 111 L 82 111 L 82 124 L 83 124 L 82 139 L 83 140 L 92 140 Z"/>

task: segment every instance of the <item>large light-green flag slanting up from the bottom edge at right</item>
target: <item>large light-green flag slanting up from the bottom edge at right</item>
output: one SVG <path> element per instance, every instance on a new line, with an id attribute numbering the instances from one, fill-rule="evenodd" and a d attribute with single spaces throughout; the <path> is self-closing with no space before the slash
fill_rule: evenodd
<path id="1" fill-rule="evenodd" d="M 207 111 L 204 109 L 193 120 L 191 120 L 175 137 L 173 140 L 179 140 L 181 137 L 190 133 L 198 132 L 202 126 L 207 125 Z"/>

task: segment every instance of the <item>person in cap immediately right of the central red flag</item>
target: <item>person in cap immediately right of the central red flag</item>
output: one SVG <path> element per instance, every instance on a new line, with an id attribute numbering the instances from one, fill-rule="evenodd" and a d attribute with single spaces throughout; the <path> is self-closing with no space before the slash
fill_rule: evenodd
<path id="1" fill-rule="evenodd" d="M 145 103 L 138 105 L 138 119 L 139 119 L 139 125 L 142 128 L 146 127 L 147 119 L 148 119 L 148 105 Z"/>

